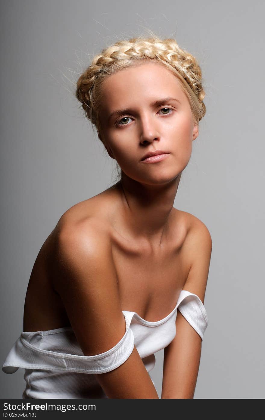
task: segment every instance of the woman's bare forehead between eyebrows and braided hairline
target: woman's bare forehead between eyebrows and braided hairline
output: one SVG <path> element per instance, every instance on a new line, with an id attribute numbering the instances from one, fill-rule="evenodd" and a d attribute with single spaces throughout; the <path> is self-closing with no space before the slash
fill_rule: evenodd
<path id="1" fill-rule="evenodd" d="M 152 102 L 160 97 L 176 96 L 185 100 L 181 83 L 160 63 L 144 63 L 118 71 L 102 84 L 102 109 L 134 106 L 139 101 Z"/>

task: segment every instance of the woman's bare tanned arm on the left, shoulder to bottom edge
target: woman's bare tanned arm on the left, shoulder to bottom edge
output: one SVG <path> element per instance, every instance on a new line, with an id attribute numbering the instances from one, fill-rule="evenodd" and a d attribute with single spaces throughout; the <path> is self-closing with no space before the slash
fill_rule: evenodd
<path id="1" fill-rule="evenodd" d="M 88 220 L 62 228 L 56 249 L 55 289 L 76 339 L 85 356 L 107 352 L 126 331 L 108 235 Z M 158 399 L 135 346 L 120 366 L 95 376 L 109 398 Z"/>

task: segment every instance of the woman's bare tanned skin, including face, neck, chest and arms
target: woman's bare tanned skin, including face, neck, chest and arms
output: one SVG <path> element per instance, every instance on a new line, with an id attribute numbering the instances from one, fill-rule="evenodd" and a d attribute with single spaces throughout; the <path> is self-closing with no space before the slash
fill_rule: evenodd
<path id="1" fill-rule="evenodd" d="M 169 97 L 177 101 L 163 99 Z M 176 76 L 154 63 L 119 71 L 104 82 L 102 103 L 99 136 L 122 169 L 121 181 L 74 205 L 60 218 L 37 256 L 24 307 L 24 331 L 71 325 L 85 355 L 105 352 L 121 339 L 122 310 L 134 311 L 148 321 L 161 320 L 176 306 L 187 281 L 188 290 L 203 302 L 210 263 L 206 226 L 173 207 L 181 173 L 198 136 Z M 115 110 L 126 112 L 110 117 Z M 168 152 L 168 157 L 152 164 L 142 162 L 154 150 Z M 206 263 L 197 286 L 189 273 L 195 266 L 197 244 L 204 249 L 204 243 Z M 106 318 L 112 321 L 109 328 Z M 180 397 L 192 398 L 201 339 L 181 314 L 177 318 L 182 340 L 186 340 L 185 352 L 191 345 L 197 349 L 196 362 L 189 363 L 186 375 L 187 396 Z M 170 378 L 177 346 L 172 342 L 168 349 L 172 362 L 165 364 L 167 398 L 178 398 L 174 391 L 178 384 Z M 178 360 L 183 364 L 181 351 Z M 109 398 L 158 398 L 136 348 L 123 365 L 96 376 Z"/>

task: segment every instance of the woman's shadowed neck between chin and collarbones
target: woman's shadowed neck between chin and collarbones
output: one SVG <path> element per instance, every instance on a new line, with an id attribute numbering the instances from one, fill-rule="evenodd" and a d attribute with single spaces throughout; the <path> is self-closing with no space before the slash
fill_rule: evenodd
<path id="1" fill-rule="evenodd" d="M 134 181 L 122 172 L 115 186 L 121 193 L 122 215 L 119 223 L 129 229 L 133 239 L 159 247 L 169 232 L 174 199 L 181 174 L 163 185 Z"/>

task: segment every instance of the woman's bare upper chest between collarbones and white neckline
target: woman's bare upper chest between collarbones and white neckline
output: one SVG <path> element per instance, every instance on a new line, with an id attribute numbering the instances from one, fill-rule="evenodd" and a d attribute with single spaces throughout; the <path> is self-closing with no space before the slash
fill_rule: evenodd
<path id="1" fill-rule="evenodd" d="M 115 235 L 112 255 L 123 310 L 135 311 L 149 321 L 173 310 L 190 268 L 185 236 L 186 226 L 182 226 L 175 241 L 151 250 Z"/>

